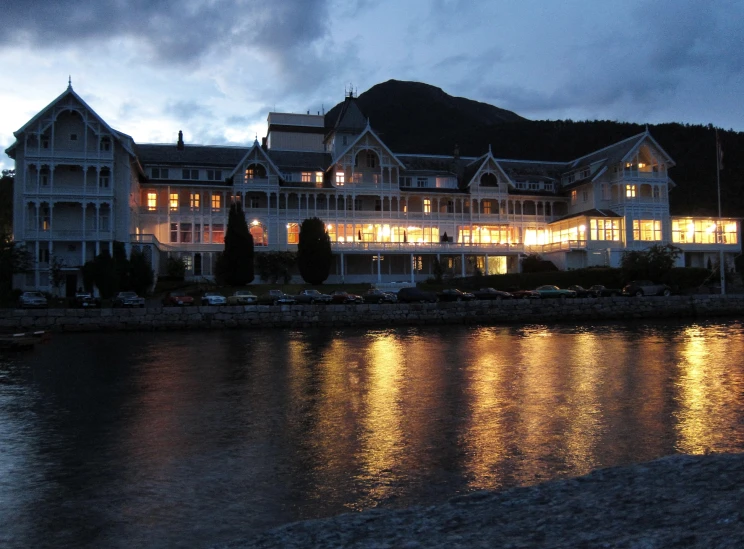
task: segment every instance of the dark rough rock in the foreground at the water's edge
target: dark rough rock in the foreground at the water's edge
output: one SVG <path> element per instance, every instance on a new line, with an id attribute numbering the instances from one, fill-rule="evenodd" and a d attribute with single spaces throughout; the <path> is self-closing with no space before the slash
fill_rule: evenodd
<path id="1" fill-rule="evenodd" d="M 297 522 L 247 548 L 744 547 L 744 454 L 671 456 L 431 507 Z"/>

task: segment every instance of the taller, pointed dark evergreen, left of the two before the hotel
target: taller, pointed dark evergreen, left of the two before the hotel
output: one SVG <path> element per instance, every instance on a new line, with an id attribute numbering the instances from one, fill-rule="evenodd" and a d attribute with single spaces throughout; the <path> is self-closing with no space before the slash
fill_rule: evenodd
<path id="1" fill-rule="evenodd" d="M 220 284 L 244 286 L 253 282 L 253 236 L 240 202 L 230 205 L 225 250 L 217 258 L 216 271 Z"/>

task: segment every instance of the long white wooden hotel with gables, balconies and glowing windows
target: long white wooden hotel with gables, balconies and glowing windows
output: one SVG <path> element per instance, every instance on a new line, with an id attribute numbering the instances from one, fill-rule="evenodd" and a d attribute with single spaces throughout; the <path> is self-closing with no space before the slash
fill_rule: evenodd
<path id="1" fill-rule="evenodd" d="M 23 289 L 48 289 L 115 240 L 156 272 L 182 257 L 210 278 L 227 212 L 242 202 L 256 251 L 296 250 L 299 225 L 321 218 L 331 282 L 419 281 L 439 258 L 456 275 L 516 272 L 538 253 L 560 269 L 617 266 L 626 250 L 673 244 L 680 265 L 741 252 L 739 220 L 671 216 L 674 161 L 648 131 L 568 162 L 391 151 L 345 98 L 338 118 L 271 112 L 250 147 L 137 144 L 68 88 L 15 132 L 14 238 L 33 252 Z"/>

